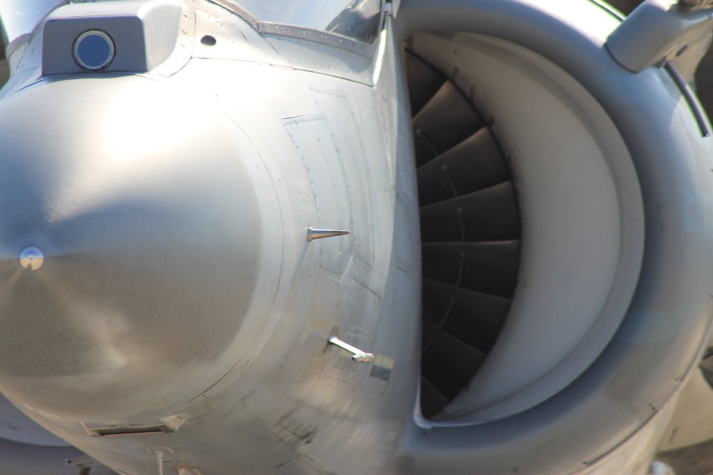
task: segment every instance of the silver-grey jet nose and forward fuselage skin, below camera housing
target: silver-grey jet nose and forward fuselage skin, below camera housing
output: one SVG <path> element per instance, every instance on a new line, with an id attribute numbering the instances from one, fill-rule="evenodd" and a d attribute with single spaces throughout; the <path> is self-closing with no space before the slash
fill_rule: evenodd
<path id="1" fill-rule="evenodd" d="M 337 77 L 295 73 L 255 55 L 322 46 L 271 44 L 201 7 L 178 73 L 107 68 L 3 91 L 0 134 L 15 140 L 0 159 L 0 328 L 16 343 L 4 347 L 0 390 L 126 473 L 153 474 L 158 452 L 165 471 L 230 473 L 237 457 L 248 473 L 276 460 L 309 473 L 298 449 L 318 435 L 332 455 L 317 464 L 360 466 L 338 448 L 365 422 L 369 447 L 393 446 L 416 400 L 417 320 L 400 328 L 419 298 L 409 117 L 386 107 L 405 104 L 398 53 L 390 42 L 376 87 L 362 68 L 371 59 L 337 47 L 328 55 L 347 65 Z M 215 30 L 214 18 L 235 28 Z M 17 119 L 38 107 L 62 112 Z M 404 133 L 386 136 L 377 110 Z M 315 224 L 339 237 L 307 241 Z M 44 256 L 36 271 L 17 260 L 30 246 Z M 324 353 L 335 326 L 374 361 Z M 320 429 L 304 435 L 301 421 Z M 215 432 L 224 424 L 235 437 Z"/>

